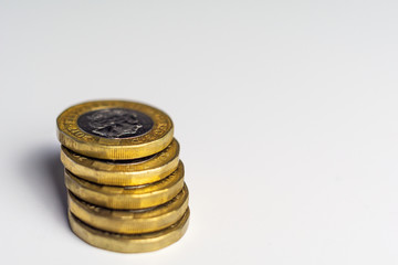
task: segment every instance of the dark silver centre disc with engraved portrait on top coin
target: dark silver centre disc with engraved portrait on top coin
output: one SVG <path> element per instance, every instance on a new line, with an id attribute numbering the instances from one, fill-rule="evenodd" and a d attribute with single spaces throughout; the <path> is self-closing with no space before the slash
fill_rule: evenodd
<path id="1" fill-rule="evenodd" d="M 78 127 L 104 138 L 130 138 L 145 135 L 153 126 L 153 119 L 140 112 L 128 108 L 105 108 L 83 114 Z"/>

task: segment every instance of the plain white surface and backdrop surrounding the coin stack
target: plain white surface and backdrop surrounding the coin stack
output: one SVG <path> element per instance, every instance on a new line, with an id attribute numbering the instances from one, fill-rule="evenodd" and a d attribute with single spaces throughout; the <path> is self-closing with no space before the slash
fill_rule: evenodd
<path id="1" fill-rule="evenodd" d="M 397 264 L 397 1 L 0 1 L 1 264 Z M 66 221 L 55 118 L 167 112 L 191 222 L 118 254 Z"/>

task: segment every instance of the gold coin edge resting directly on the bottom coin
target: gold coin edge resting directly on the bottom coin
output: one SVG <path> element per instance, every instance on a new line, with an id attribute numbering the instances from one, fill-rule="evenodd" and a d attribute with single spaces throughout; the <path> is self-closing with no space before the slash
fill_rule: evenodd
<path id="1" fill-rule="evenodd" d="M 188 188 L 165 204 L 143 210 L 113 210 L 87 203 L 67 193 L 70 211 L 84 223 L 100 230 L 121 233 L 148 233 L 170 226 L 188 208 Z"/>

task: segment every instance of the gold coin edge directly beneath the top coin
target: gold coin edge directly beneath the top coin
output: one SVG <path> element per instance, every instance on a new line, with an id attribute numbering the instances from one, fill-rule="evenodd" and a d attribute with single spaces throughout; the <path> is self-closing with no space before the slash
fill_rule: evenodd
<path id="1" fill-rule="evenodd" d="M 179 161 L 176 139 L 163 151 L 145 159 L 112 161 L 88 158 L 61 148 L 65 168 L 82 179 L 108 186 L 139 186 L 164 179 L 176 170 Z"/>

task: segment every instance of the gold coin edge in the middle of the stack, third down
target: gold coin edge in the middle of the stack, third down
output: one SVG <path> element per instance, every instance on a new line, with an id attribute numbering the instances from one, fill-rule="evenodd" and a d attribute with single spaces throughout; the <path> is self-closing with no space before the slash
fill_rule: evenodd
<path id="1" fill-rule="evenodd" d="M 92 204 L 119 210 L 160 205 L 176 197 L 184 187 L 184 163 L 160 181 L 146 186 L 116 187 L 90 182 L 65 170 L 65 186 L 77 198 Z"/>

